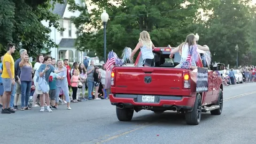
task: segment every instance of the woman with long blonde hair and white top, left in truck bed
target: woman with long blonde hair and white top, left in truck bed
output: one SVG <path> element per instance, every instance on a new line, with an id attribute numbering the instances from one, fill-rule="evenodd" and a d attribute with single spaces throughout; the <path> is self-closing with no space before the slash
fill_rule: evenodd
<path id="1" fill-rule="evenodd" d="M 154 61 L 154 54 L 152 52 L 154 48 L 155 48 L 155 45 L 153 45 L 150 39 L 149 33 L 143 30 L 142 32 L 140 32 L 139 43 L 136 45 L 136 47 L 132 51 L 130 59 L 132 60 L 133 55 L 140 49 L 142 59 L 143 59 L 143 66 L 154 67 L 155 61 Z"/>

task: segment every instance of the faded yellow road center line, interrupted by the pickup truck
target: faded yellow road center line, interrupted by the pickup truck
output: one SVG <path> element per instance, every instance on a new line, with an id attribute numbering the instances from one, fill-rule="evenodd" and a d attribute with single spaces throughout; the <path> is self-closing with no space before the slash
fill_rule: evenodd
<path id="1" fill-rule="evenodd" d="M 230 99 L 240 98 L 240 97 L 247 96 L 247 95 L 253 94 L 253 93 L 256 93 L 256 91 L 252 91 L 252 92 L 240 94 L 240 95 L 237 95 L 237 96 L 233 96 L 233 97 L 224 99 L 223 101 L 228 101 L 228 100 L 230 100 Z M 149 124 L 149 123 L 148 123 L 148 124 L 143 124 L 142 126 L 140 126 L 140 127 L 138 127 L 138 128 L 135 128 L 135 129 L 132 129 L 132 130 L 123 132 L 123 133 L 121 133 L 121 134 L 119 134 L 119 135 L 111 136 L 111 137 L 109 137 L 108 139 L 102 140 L 102 141 L 100 141 L 100 142 L 96 142 L 95 144 L 102 144 L 102 143 L 108 142 L 108 141 L 110 141 L 110 140 L 112 140 L 112 139 L 115 139 L 115 138 L 120 137 L 120 136 L 124 136 L 124 135 L 129 134 L 129 133 L 131 133 L 131 132 L 133 132 L 133 131 L 136 131 L 136 130 L 139 130 L 139 129 L 143 129 L 143 128 L 148 127 L 148 126 L 150 126 L 150 125 L 152 125 L 152 123 L 151 123 L 151 124 Z"/>

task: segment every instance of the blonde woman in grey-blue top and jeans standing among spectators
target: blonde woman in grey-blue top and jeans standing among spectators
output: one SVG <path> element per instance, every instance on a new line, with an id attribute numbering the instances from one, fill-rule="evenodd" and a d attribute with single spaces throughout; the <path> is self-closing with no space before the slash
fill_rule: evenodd
<path id="1" fill-rule="evenodd" d="M 32 83 L 32 64 L 29 61 L 28 54 L 23 54 L 19 66 L 21 68 L 21 110 L 31 110 L 28 102 Z"/>

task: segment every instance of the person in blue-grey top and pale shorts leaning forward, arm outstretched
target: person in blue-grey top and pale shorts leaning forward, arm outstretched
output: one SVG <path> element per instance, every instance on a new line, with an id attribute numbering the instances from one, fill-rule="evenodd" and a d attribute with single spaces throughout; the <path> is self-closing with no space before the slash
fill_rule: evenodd
<path id="1" fill-rule="evenodd" d="M 45 94 L 45 98 L 46 98 L 46 104 L 47 104 L 47 110 L 48 112 L 53 112 L 52 109 L 50 108 L 50 99 L 49 99 L 49 94 L 48 91 L 46 93 L 43 93 L 43 91 L 39 90 L 39 76 L 43 77 L 45 76 L 45 80 L 47 82 L 47 84 L 49 83 L 49 77 L 51 72 L 54 72 L 56 74 L 60 73 L 61 71 L 58 71 L 54 68 L 53 65 L 51 65 L 52 62 L 52 57 L 51 56 L 45 56 L 44 57 L 44 61 L 43 64 L 40 65 L 39 69 L 38 69 L 38 73 L 36 73 L 37 75 L 37 80 L 36 80 L 36 93 L 40 95 L 40 103 L 43 104 L 43 95 Z M 49 86 L 49 84 L 47 85 Z M 45 108 L 44 105 L 41 106 L 41 110 L 40 112 L 44 112 Z"/>

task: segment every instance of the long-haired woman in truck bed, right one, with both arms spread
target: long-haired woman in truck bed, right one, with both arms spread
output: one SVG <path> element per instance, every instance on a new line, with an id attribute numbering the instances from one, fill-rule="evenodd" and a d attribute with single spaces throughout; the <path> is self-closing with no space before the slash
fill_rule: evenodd
<path id="1" fill-rule="evenodd" d="M 201 46 L 196 44 L 196 38 L 194 34 L 189 34 L 186 36 L 186 41 L 178 47 L 175 47 L 174 50 L 171 51 L 170 59 L 173 57 L 174 53 L 179 52 L 181 54 L 181 60 L 178 68 L 196 68 L 196 61 L 199 58 L 199 54 L 197 52 L 197 48 L 203 51 L 209 51 L 209 47 L 207 45 Z M 191 57 L 188 57 L 188 56 Z M 189 61 L 188 61 L 189 60 Z"/>

